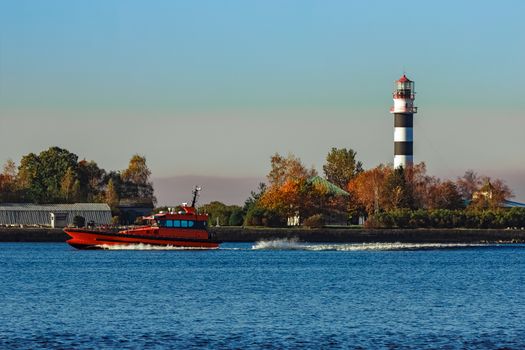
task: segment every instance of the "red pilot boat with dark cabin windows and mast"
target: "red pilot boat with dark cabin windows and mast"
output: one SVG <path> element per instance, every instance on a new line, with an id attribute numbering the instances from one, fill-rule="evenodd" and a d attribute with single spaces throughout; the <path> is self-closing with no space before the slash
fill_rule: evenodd
<path id="1" fill-rule="evenodd" d="M 156 246 L 214 249 L 220 241 L 208 232 L 208 215 L 195 209 L 199 188 L 193 191 L 191 206 L 182 211 L 144 217 L 148 225 L 121 231 L 86 228 L 66 228 L 69 245 L 78 249 L 103 249 L 115 245 L 148 244 Z"/>

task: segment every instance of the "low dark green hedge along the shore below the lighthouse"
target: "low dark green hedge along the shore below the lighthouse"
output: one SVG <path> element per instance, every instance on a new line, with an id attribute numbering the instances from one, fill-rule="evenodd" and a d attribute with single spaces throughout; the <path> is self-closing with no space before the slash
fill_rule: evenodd
<path id="1" fill-rule="evenodd" d="M 525 227 L 525 208 L 500 210 L 397 209 L 371 215 L 368 228 L 506 228 Z"/>

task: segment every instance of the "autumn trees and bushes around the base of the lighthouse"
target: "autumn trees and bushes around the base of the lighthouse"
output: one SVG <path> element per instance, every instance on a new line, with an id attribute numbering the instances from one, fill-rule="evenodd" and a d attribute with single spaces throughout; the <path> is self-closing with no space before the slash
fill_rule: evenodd
<path id="1" fill-rule="evenodd" d="M 367 227 L 378 228 L 525 226 L 525 209 L 502 207 L 513 196 L 509 187 L 472 170 L 455 180 L 442 180 L 427 174 L 425 163 L 406 169 L 383 164 L 364 169 L 356 152 L 346 148 L 332 148 L 327 154 L 323 178 L 328 184 L 312 181 L 319 178 L 317 171 L 293 154 L 274 154 L 270 168 L 267 184 L 260 184 L 243 207 L 234 209 L 237 217 L 242 214 L 243 225 L 286 226 L 296 217 L 305 226 L 322 226 L 334 219 L 357 223 L 361 217 L 367 218 Z M 334 191 L 330 183 L 346 194 Z M 215 203 L 213 208 L 219 207 Z M 224 217 L 223 222 L 229 220 Z"/>

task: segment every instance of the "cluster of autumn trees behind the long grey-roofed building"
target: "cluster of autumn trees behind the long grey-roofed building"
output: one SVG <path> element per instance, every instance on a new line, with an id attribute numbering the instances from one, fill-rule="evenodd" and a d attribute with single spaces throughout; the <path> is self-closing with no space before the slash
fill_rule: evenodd
<path id="1" fill-rule="evenodd" d="M 155 202 L 151 171 L 135 154 L 121 171 L 106 171 L 95 161 L 63 148 L 51 147 L 24 155 L 17 166 L 8 160 L 0 174 L 0 202 L 40 204 L 107 203 L 118 214 L 122 199 Z"/>

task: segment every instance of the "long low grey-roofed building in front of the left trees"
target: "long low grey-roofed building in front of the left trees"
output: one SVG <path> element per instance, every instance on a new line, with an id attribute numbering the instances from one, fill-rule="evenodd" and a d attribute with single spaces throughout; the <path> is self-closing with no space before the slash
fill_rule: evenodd
<path id="1" fill-rule="evenodd" d="M 95 225 L 111 224 L 111 210 L 106 203 L 31 204 L 1 203 L 0 225 L 65 227 L 75 216 Z"/>

